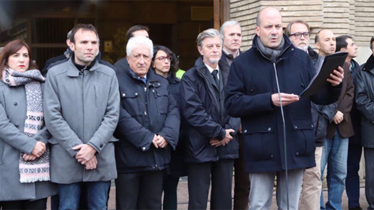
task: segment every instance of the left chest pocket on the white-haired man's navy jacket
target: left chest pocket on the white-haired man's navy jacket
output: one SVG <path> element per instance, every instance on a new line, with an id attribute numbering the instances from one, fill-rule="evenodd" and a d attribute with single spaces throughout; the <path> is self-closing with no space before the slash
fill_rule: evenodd
<path id="1" fill-rule="evenodd" d="M 140 93 L 134 90 L 121 90 L 121 105 L 131 117 L 143 115 Z"/>

